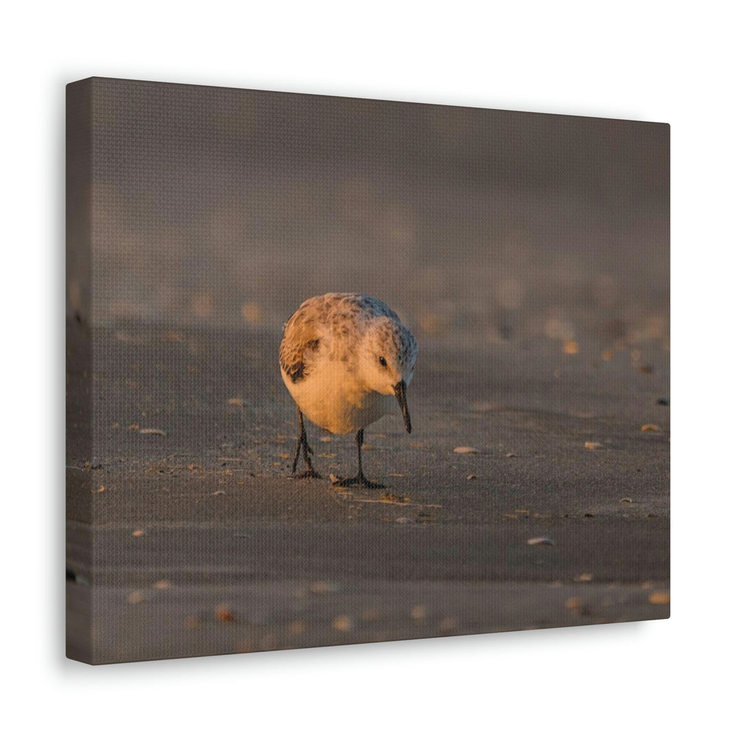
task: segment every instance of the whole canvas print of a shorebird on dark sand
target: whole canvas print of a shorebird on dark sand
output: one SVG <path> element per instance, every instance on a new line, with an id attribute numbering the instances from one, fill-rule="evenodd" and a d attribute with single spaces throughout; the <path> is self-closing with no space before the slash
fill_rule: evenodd
<path id="1" fill-rule="evenodd" d="M 669 126 L 67 89 L 68 657 L 669 616 Z"/>

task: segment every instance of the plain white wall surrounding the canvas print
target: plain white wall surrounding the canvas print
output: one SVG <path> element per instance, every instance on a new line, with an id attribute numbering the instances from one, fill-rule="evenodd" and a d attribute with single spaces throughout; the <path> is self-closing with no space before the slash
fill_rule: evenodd
<path id="1" fill-rule="evenodd" d="M 733 732 L 742 530 L 733 9 L 131 0 L 4 10 L 0 432 L 10 446 L 0 449 L 0 615 L 13 738 Z M 65 660 L 64 86 L 90 75 L 670 122 L 672 619 L 96 669 Z"/>

